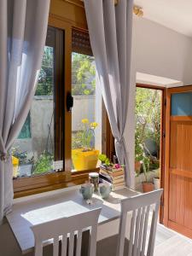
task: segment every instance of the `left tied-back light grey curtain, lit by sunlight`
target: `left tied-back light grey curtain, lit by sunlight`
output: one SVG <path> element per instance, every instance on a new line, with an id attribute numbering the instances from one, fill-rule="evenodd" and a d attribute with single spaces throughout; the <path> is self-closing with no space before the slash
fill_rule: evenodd
<path id="1" fill-rule="evenodd" d="M 0 0 L 0 222 L 12 206 L 10 148 L 35 93 L 48 17 L 49 0 Z"/>

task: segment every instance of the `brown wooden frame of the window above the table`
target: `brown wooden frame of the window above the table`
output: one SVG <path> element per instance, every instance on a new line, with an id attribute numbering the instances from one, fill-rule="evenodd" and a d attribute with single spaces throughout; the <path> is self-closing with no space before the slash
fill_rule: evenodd
<path id="1" fill-rule="evenodd" d="M 55 189 L 67 188 L 73 185 L 78 185 L 88 180 L 89 172 L 99 171 L 98 168 L 94 170 L 85 170 L 85 171 L 78 171 L 78 172 L 72 172 L 71 170 L 72 155 L 71 155 L 71 150 L 68 150 L 68 145 L 71 145 L 72 143 L 72 135 L 71 135 L 72 113 L 67 112 L 66 96 L 68 92 L 71 92 L 72 30 L 75 24 L 73 22 L 69 22 L 68 20 L 61 19 L 61 17 L 58 17 L 56 15 L 49 15 L 49 26 L 53 26 L 55 28 L 61 29 L 64 31 L 64 34 L 65 34 L 64 35 L 64 38 L 65 38 L 64 54 L 63 54 L 64 67 L 62 67 L 58 63 L 58 65 L 60 65 L 60 68 L 63 68 L 64 78 L 63 78 L 63 81 L 61 81 L 61 78 L 59 78 L 59 80 L 56 81 L 59 84 L 63 84 L 63 86 L 60 86 L 60 90 L 64 90 L 65 92 L 63 93 L 64 99 L 61 99 L 61 96 L 60 96 L 59 101 L 56 101 L 56 105 L 55 105 L 55 108 L 57 109 L 56 112 L 58 113 L 60 111 L 59 115 L 55 114 L 55 124 L 56 124 L 55 130 L 57 130 L 56 137 L 55 137 L 55 144 L 56 144 L 55 160 L 63 159 L 64 172 L 51 172 L 51 173 L 46 173 L 38 176 L 20 177 L 20 178 L 14 179 L 15 198 L 26 196 L 26 195 L 38 194 L 38 193 L 55 190 Z M 88 32 L 88 31 L 84 29 L 84 32 Z M 60 37 L 60 35 L 57 35 L 57 36 Z M 61 51 L 61 49 L 58 49 L 58 50 Z M 58 76 L 57 76 L 57 79 L 58 79 Z M 55 97 L 58 97 L 58 90 Z M 61 106 L 64 109 L 64 111 L 62 110 Z M 62 118 L 63 113 L 64 113 L 64 116 Z M 104 122 L 103 122 L 104 125 L 102 125 L 102 134 L 103 133 L 106 134 L 106 137 L 104 138 L 106 154 L 108 155 L 108 157 L 112 159 L 113 152 L 114 152 L 113 136 L 112 136 L 109 122 L 108 122 L 108 115 L 104 108 L 102 110 L 102 114 L 104 118 Z M 65 126 L 65 132 L 64 132 L 65 138 L 62 137 L 62 132 L 61 132 L 61 130 L 64 127 L 63 123 L 67 124 Z M 62 140 L 65 142 L 63 145 L 63 148 L 60 148 L 60 150 L 57 150 L 58 146 L 62 147 L 60 143 Z"/>

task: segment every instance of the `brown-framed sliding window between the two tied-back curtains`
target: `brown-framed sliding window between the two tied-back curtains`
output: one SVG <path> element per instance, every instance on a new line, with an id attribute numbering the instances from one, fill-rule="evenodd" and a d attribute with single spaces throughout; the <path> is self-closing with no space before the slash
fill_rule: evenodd
<path id="1" fill-rule="evenodd" d="M 13 147 L 15 197 L 84 183 L 96 170 L 98 154 L 113 155 L 89 34 L 61 20 L 51 22 L 61 28 L 49 26 L 32 108 Z M 75 160 L 79 149 L 82 158 Z"/>

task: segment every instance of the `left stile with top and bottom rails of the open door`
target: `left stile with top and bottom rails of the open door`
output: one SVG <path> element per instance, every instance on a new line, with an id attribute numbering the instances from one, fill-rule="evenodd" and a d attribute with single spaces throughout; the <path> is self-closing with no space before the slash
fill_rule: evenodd
<path id="1" fill-rule="evenodd" d="M 192 85 L 179 86 L 166 89 L 166 148 L 165 148 L 165 179 L 164 179 L 164 218 L 163 224 L 172 230 L 182 232 L 183 235 L 189 236 L 189 232 L 180 227 L 179 230 L 176 226 L 169 221 L 169 162 L 170 162 L 170 122 L 171 122 L 171 96 L 173 93 L 183 93 L 192 91 Z"/>

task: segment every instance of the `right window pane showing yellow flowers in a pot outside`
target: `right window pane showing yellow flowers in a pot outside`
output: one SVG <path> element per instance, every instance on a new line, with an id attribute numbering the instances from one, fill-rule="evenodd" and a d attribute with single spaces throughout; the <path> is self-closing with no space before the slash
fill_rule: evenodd
<path id="1" fill-rule="evenodd" d="M 93 169 L 102 151 L 102 96 L 93 56 L 73 52 L 72 95 L 73 169 Z"/>

